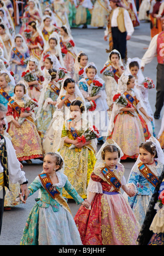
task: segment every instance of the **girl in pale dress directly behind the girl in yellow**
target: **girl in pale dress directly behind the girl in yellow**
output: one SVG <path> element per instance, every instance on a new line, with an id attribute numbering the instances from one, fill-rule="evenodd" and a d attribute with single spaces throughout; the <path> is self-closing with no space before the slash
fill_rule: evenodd
<path id="1" fill-rule="evenodd" d="M 67 75 L 63 79 L 60 94 L 57 98 L 56 111 L 43 139 L 43 152 L 56 152 L 61 141 L 64 121 L 69 113 L 72 101 L 81 100 L 85 102 L 77 84 Z"/>

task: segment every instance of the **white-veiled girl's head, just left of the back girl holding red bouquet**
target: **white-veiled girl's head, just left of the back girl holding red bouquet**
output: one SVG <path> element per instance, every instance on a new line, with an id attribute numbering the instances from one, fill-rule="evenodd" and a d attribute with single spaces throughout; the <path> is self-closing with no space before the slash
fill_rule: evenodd
<path id="1" fill-rule="evenodd" d="M 65 68 L 65 64 L 63 62 L 63 57 L 61 53 L 61 46 L 60 46 L 60 37 L 58 36 L 57 32 L 53 32 L 50 37 L 48 42 L 45 45 L 42 58 L 40 60 L 41 66 L 44 66 L 44 60 L 45 56 L 51 55 L 55 56 L 55 59 L 57 57 L 58 61 L 60 62 L 61 67 Z"/>

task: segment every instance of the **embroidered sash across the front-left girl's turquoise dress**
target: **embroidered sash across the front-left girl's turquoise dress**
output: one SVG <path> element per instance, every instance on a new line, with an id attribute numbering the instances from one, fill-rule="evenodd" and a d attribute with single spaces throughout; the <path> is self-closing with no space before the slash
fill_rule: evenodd
<path id="1" fill-rule="evenodd" d="M 65 210 L 71 213 L 69 206 L 65 199 L 60 195 L 60 191 L 53 187 L 51 179 L 48 174 L 42 173 L 39 174 L 40 181 L 42 182 L 43 187 L 48 192 L 48 194 L 52 197 L 52 199 L 56 200 Z M 72 213 L 71 213 L 72 214 Z"/>

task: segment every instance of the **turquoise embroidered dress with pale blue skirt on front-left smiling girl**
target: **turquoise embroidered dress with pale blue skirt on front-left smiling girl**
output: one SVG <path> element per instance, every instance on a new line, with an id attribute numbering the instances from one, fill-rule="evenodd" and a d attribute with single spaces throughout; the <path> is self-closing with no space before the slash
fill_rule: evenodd
<path id="1" fill-rule="evenodd" d="M 60 195 L 62 194 L 62 189 L 65 188 L 77 204 L 83 202 L 83 199 L 69 183 L 65 174 L 60 172 L 56 172 L 56 174 L 58 183 L 54 185 Z M 40 189 L 41 197 L 36 200 L 37 202 L 28 216 L 20 244 L 81 245 L 79 231 L 66 201 L 65 206 L 67 207 L 63 203 L 59 203 L 58 200 L 53 199 L 43 187 L 39 176 L 34 179 L 28 189 L 30 190 L 29 196 Z"/>

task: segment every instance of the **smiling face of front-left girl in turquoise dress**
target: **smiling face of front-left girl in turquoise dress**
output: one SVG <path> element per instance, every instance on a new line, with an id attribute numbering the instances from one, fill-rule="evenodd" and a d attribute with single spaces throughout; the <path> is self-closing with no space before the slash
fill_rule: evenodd
<path id="1" fill-rule="evenodd" d="M 52 155 L 45 155 L 45 158 L 43 161 L 44 173 L 54 174 L 55 168 L 58 168 L 58 165 L 56 165 L 56 158 Z"/>

